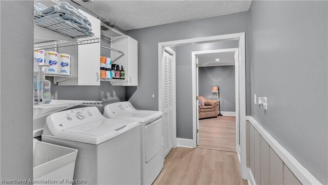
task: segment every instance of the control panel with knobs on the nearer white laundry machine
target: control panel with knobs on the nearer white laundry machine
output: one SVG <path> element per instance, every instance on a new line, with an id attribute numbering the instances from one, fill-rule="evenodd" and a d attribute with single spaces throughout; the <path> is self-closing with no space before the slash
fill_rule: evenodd
<path id="1" fill-rule="evenodd" d="M 47 117 L 46 124 L 50 132 L 56 135 L 67 128 L 104 119 L 106 118 L 101 115 L 97 107 L 84 107 L 51 114 Z"/>

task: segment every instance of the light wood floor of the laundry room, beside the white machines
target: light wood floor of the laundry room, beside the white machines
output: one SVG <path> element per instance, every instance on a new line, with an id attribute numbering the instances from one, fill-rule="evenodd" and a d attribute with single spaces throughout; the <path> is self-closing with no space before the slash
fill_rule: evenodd
<path id="1" fill-rule="evenodd" d="M 211 149 L 172 149 L 153 184 L 248 184 L 237 153 Z"/>

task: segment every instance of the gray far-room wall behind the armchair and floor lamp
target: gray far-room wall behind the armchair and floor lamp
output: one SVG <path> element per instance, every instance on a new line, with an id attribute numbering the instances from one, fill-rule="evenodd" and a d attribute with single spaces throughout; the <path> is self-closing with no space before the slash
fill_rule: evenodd
<path id="1" fill-rule="evenodd" d="M 207 100 L 218 99 L 211 90 L 219 85 L 221 111 L 236 112 L 235 66 L 199 67 L 198 83 L 198 94 Z"/>

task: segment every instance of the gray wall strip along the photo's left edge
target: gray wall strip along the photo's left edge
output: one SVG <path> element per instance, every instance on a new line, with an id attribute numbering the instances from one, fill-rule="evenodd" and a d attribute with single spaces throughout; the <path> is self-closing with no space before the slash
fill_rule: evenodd
<path id="1" fill-rule="evenodd" d="M 1 1 L 0 4 L 0 176 L 32 179 L 33 1 Z"/>

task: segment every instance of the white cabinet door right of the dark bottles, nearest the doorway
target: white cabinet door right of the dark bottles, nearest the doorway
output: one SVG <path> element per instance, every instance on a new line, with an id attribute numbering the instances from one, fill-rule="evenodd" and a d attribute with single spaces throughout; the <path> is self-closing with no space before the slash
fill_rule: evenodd
<path id="1" fill-rule="evenodd" d="M 127 74 L 128 82 L 125 86 L 138 85 L 138 41 L 128 36 L 128 50 L 127 50 Z"/>

